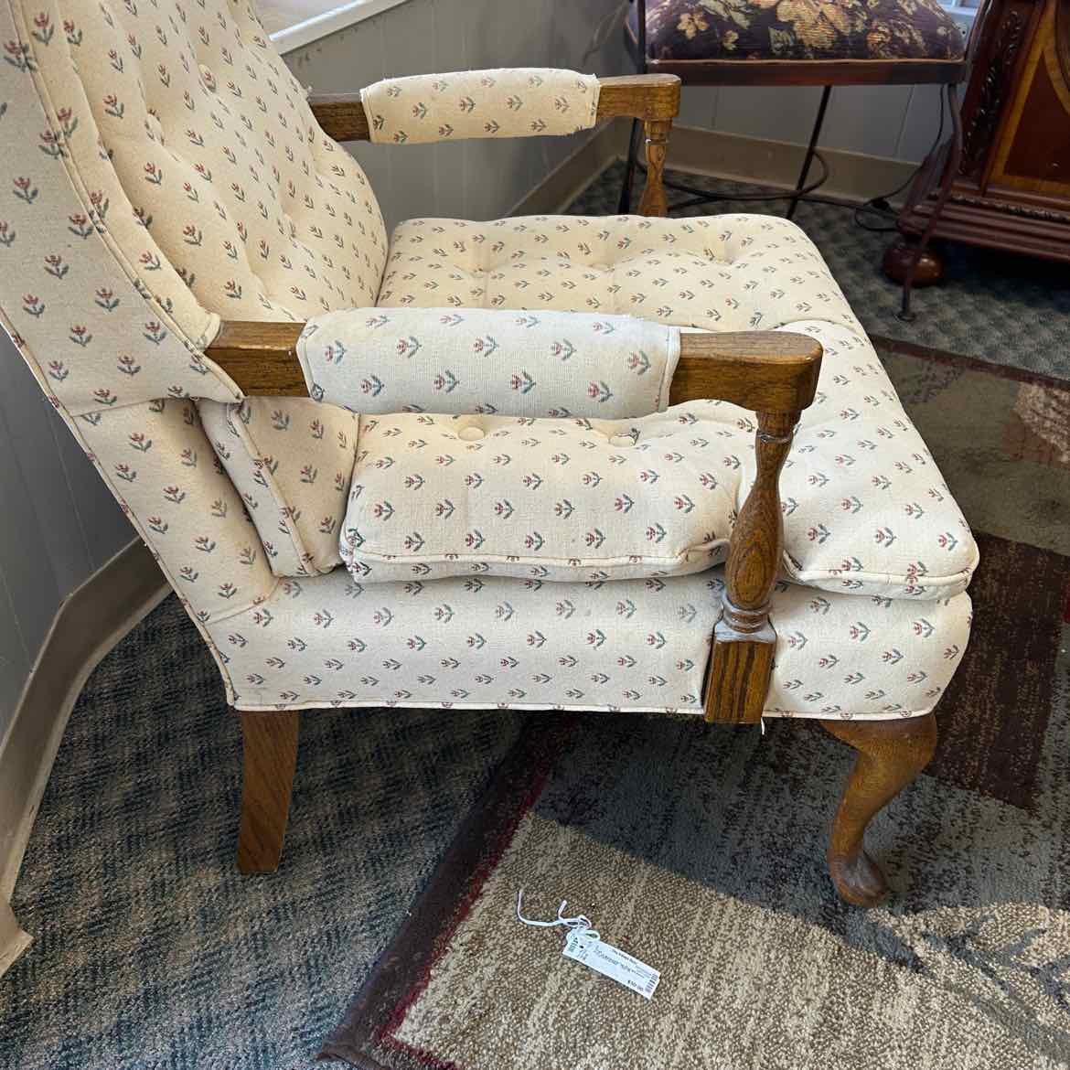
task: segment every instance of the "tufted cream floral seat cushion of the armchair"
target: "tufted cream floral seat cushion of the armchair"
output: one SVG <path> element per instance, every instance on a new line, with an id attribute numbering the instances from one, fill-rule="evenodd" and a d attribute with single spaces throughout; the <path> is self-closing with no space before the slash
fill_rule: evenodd
<path id="1" fill-rule="evenodd" d="M 784 577 L 824 591 L 912 599 L 949 597 L 968 583 L 977 547 L 959 507 L 820 253 L 785 219 L 411 220 L 394 232 L 380 303 L 595 308 L 683 327 L 808 334 L 821 341 L 825 357 L 817 396 L 802 413 L 780 479 Z M 518 455 L 526 459 L 533 450 L 540 459 L 533 470 L 542 480 L 540 489 L 518 482 L 514 473 L 520 469 L 495 462 L 496 450 L 486 444 L 454 448 L 468 444 L 452 439 L 448 448 L 417 448 L 412 443 L 425 437 L 408 425 L 362 425 L 353 484 L 354 490 L 363 489 L 350 504 L 342 537 L 356 533 L 358 572 L 373 566 L 367 579 L 419 575 L 432 564 L 419 560 L 428 546 L 438 556 L 457 554 L 433 562 L 435 569 L 455 572 L 504 570 L 560 579 L 563 566 L 556 561 L 564 560 L 566 574 L 575 577 L 567 563 L 576 559 L 576 567 L 592 571 L 609 568 L 614 559 L 617 577 L 629 575 L 629 567 L 639 568 L 639 575 L 686 571 L 701 567 L 696 553 L 706 554 L 708 563 L 722 552 L 718 544 L 731 534 L 754 474 L 754 415 L 725 402 L 688 402 L 648 423 L 595 422 L 590 426 L 602 427 L 598 434 L 587 434 L 586 425 L 562 427 L 560 432 L 577 441 L 577 448 L 562 450 L 567 464 L 553 461 L 556 450 L 545 445 L 541 431 L 503 432 L 484 417 L 470 422 L 492 428 L 487 441 L 495 446 L 504 433 Z M 435 424 L 434 433 L 454 434 L 450 426 L 459 425 Z M 387 437 L 389 428 L 397 430 Z M 607 435 L 635 428 L 640 444 L 649 442 L 651 448 L 628 455 L 642 463 L 618 465 L 611 460 L 616 450 Z M 538 439 L 539 445 L 522 447 L 524 438 Z M 580 444 L 584 439 L 587 445 Z M 435 460 L 440 455 L 454 458 L 448 469 Z M 588 456 L 600 458 L 598 468 L 586 464 Z M 647 469 L 658 478 L 653 490 Z M 399 470 L 416 477 L 411 487 L 396 477 Z M 473 477 L 472 484 L 448 482 L 450 471 Z M 598 486 L 582 483 L 588 471 L 599 476 Z M 448 517 L 428 522 L 429 510 L 446 496 L 437 492 L 446 486 Z M 507 486 L 509 494 L 500 495 L 500 486 Z M 628 514 L 616 504 L 625 501 L 622 494 L 638 503 Z M 563 509 L 564 515 L 554 509 L 566 501 L 576 506 L 574 495 L 582 496 L 585 509 Z M 677 495 L 694 508 L 676 507 Z M 539 511 L 535 502 L 544 496 L 552 501 Z M 493 511 L 500 501 L 513 509 L 513 529 Z M 391 508 L 376 516 L 381 503 Z M 411 524 L 416 518 L 419 524 Z M 526 523 L 536 519 L 537 528 Z M 647 528 L 666 532 L 656 555 Z M 413 531 L 421 539 L 406 542 Z M 532 534 L 540 537 L 529 540 Z M 588 539 L 600 542 L 600 560 L 593 560 Z M 470 552 L 476 542 L 479 553 Z M 507 547 L 495 559 L 518 560 L 492 561 L 491 544 Z M 663 554 L 666 548 L 672 552 Z M 618 560 L 629 555 L 641 560 Z M 531 571 L 551 565 L 546 574 Z"/>

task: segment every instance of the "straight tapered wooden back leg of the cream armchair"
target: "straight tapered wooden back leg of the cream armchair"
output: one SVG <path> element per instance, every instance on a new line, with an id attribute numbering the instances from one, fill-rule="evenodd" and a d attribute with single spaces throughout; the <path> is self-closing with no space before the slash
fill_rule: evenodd
<path id="1" fill-rule="evenodd" d="M 243 873 L 278 869 L 297 764 L 296 710 L 243 713 L 244 781 L 238 830 L 238 868 Z"/>

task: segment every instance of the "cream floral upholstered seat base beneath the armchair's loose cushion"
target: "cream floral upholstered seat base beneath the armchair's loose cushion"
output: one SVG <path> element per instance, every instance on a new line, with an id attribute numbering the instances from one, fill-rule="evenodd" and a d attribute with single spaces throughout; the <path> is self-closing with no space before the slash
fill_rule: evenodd
<path id="1" fill-rule="evenodd" d="M 239 709 L 458 706 L 700 712 L 720 569 L 621 583 L 468 577 L 282 581 L 209 625 Z M 912 602 L 778 584 L 774 717 L 929 713 L 969 637 L 969 596 Z"/>

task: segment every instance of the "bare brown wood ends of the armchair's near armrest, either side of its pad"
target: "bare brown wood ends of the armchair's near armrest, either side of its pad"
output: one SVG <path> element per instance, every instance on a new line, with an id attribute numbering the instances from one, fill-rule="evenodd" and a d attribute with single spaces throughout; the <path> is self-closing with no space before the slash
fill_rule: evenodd
<path id="1" fill-rule="evenodd" d="M 245 394 L 303 397 L 308 391 L 295 347 L 304 323 L 225 320 L 205 355 Z M 670 404 L 699 398 L 754 412 L 798 412 L 813 400 L 821 345 L 784 331 L 684 334 L 669 387 Z"/>

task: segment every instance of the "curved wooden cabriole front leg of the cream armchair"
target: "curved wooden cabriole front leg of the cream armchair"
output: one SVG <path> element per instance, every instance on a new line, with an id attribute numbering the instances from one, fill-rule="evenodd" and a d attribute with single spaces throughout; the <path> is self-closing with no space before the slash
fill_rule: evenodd
<path id="1" fill-rule="evenodd" d="M 893 721 L 821 723 L 858 751 L 832 826 L 829 873 L 849 903 L 875 906 L 887 895 L 888 884 L 866 854 L 866 826 L 929 764 L 936 747 L 936 718 L 927 714 Z"/>

